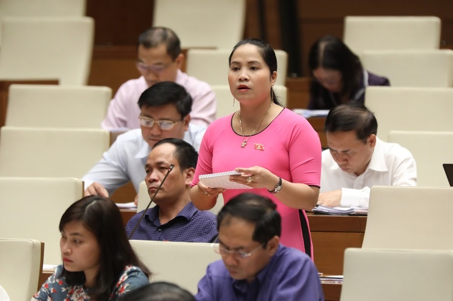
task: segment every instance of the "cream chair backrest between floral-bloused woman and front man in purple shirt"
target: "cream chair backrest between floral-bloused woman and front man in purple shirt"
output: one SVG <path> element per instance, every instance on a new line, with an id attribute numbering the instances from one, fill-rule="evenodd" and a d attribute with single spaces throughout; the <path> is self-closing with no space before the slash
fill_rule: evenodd
<path id="1" fill-rule="evenodd" d="M 197 293 L 207 266 L 220 260 L 208 243 L 131 240 L 132 248 L 154 274 L 151 281 L 169 281 Z"/>

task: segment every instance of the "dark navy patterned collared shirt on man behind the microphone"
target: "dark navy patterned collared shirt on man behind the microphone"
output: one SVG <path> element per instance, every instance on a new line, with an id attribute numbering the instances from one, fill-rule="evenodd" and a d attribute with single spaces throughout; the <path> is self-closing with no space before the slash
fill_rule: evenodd
<path id="1" fill-rule="evenodd" d="M 127 223 L 128 237 L 142 213 L 137 213 Z M 159 206 L 148 209 L 131 239 L 210 243 L 216 236 L 216 216 L 209 211 L 199 211 L 189 202 L 174 219 L 164 225 L 159 220 Z"/>

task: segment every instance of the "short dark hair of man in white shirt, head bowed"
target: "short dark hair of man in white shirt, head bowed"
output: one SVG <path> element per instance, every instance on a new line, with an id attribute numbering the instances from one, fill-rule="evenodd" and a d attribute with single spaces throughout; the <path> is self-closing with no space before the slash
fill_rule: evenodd
<path id="1" fill-rule="evenodd" d="M 340 104 L 327 114 L 324 131 L 355 131 L 357 139 L 367 143 L 369 135 L 377 134 L 377 120 L 361 103 Z"/>

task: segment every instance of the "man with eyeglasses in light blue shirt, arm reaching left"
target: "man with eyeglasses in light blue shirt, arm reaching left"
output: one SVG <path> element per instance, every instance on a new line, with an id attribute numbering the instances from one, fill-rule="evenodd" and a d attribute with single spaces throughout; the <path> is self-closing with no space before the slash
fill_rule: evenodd
<path id="1" fill-rule="evenodd" d="M 180 138 L 199 150 L 205 126 L 191 121 L 192 98 L 181 85 L 172 81 L 156 83 L 139 98 L 141 128 L 119 135 L 102 159 L 82 178 L 85 196 L 109 197 L 131 181 L 136 192 L 145 174 L 151 149 L 165 138 Z"/>

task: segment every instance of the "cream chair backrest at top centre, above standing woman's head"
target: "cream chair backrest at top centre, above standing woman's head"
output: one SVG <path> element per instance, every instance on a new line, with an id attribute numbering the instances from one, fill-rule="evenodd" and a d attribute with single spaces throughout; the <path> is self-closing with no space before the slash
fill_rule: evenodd
<path id="1" fill-rule="evenodd" d="M 231 49 L 242 39 L 245 0 L 155 0 L 153 26 L 174 30 L 182 48 Z"/>

